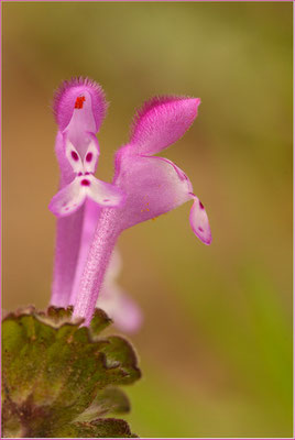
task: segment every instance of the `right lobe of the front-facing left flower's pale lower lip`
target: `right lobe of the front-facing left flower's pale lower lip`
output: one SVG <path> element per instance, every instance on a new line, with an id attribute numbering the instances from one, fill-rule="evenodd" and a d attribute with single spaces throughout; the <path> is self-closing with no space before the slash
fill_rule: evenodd
<path id="1" fill-rule="evenodd" d="M 81 179 L 81 185 L 89 182 L 87 185 L 87 196 L 98 205 L 103 207 L 118 207 L 124 202 L 124 195 L 120 188 L 112 184 L 99 180 L 92 175 Z"/>

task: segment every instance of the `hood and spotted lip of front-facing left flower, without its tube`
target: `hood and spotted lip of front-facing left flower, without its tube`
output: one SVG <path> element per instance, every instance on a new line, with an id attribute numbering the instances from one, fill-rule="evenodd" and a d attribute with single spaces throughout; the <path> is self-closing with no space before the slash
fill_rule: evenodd
<path id="1" fill-rule="evenodd" d="M 57 217 L 66 217 L 77 211 L 87 197 L 98 205 L 108 207 L 121 206 L 124 200 L 124 195 L 119 188 L 94 177 L 99 157 L 99 145 L 91 131 L 96 130 L 94 122 L 98 121 L 92 101 L 101 99 L 101 94 L 98 94 L 100 90 L 98 87 L 94 90 L 91 87 L 87 81 L 86 84 L 74 81 L 69 88 L 63 89 L 63 94 L 58 94 L 56 117 L 63 129 L 63 145 L 59 152 L 61 170 L 63 173 L 63 166 L 67 164 L 67 167 L 72 169 L 73 178 L 50 202 L 50 210 Z M 64 127 L 65 120 L 66 127 Z"/>

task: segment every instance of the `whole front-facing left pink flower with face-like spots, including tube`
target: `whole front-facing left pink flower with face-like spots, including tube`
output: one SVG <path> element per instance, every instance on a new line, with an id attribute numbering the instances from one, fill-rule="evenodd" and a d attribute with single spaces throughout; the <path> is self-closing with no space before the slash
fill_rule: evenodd
<path id="1" fill-rule="evenodd" d="M 85 78 L 65 81 L 56 91 L 54 113 L 58 124 L 55 152 L 61 169 L 59 191 L 50 209 L 58 218 L 52 304 L 69 304 L 80 249 L 85 201 L 116 207 L 122 191 L 94 177 L 99 157 L 95 133 L 105 118 L 102 89 Z M 68 217 L 69 216 L 69 217 Z"/>

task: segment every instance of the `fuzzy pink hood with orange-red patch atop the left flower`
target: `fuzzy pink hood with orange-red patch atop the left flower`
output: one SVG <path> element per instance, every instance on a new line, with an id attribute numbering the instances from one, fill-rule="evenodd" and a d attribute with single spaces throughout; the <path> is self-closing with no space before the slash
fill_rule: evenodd
<path id="1" fill-rule="evenodd" d="M 106 116 L 107 102 L 97 82 L 78 77 L 64 81 L 56 90 L 53 110 L 61 131 L 74 118 L 76 124 L 84 124 L 84 130 L 96 133 Z"/>

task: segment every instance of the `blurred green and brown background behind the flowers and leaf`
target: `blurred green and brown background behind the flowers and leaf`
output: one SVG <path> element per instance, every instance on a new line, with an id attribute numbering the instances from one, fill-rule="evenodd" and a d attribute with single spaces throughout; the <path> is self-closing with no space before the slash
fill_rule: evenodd
<path id="1" fill-rule="evenodd" d="M 75 75 L 105 88 L 106 180 L 136 107 L 200 97 L 164 156 L 206 205 L 211 246 L 188 205 L 119 243 L 145 315 L 128 418 L 142 437 L 292 436 L 292 2 L 6 2 L 2 20 L 3 307 L 50 299 L 54 88 Z"/>

